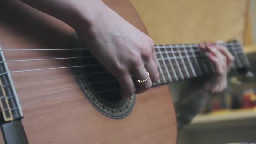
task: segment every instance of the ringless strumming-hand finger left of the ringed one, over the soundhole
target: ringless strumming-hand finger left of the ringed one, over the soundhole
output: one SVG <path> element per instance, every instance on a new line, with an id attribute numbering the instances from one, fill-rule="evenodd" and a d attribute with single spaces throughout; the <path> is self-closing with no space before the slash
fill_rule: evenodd
<path id="1" fill-rule="evenodd" d="M 131 75 L 126 72 L 124 75 L 120 75 L 117 77 L 121 85 L 121 96 L 123 97 L 130 97 L 133 93 L 135 93 L 136 88 L 131 78 Z"/>

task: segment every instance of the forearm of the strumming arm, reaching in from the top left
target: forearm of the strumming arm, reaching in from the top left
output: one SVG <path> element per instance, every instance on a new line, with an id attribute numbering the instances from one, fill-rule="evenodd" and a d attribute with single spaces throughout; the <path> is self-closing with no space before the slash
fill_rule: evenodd
<path id="1" fill-rule="evenodd" d="M 91 26 L 107 6 L 101 0 L 21 0 L 77 29 Z"/>

